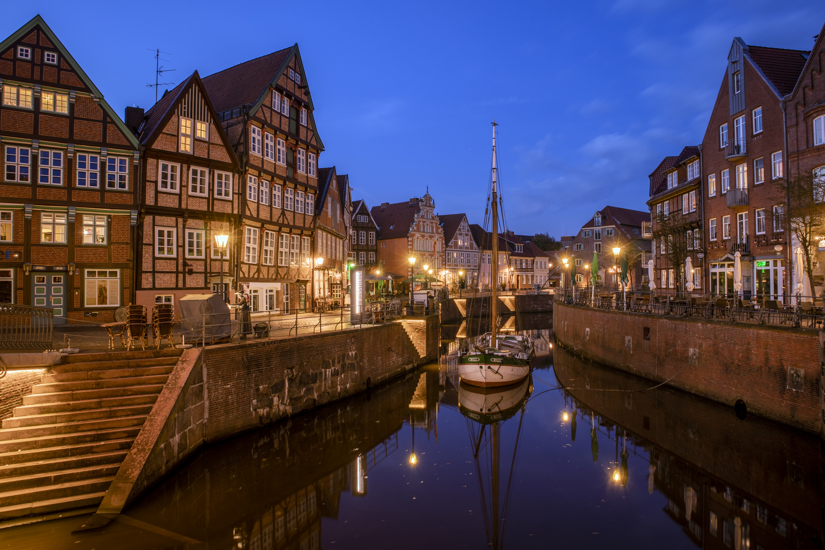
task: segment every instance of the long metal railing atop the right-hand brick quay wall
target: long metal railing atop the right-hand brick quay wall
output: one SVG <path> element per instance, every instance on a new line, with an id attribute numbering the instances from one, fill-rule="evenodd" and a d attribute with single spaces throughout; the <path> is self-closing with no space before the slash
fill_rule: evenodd
<path id="1" fill-rule="evenodd" d="M 823 298 L 783 296 L 742 298 L 738 294 L 673 294 L 664 291 L 592 292 L 591 289 L 556 289 L 555 301 L 596 309 L 676 317 L 704 317 L 728 322 L 752 322 L 789 327 L 825 327 Z"/>

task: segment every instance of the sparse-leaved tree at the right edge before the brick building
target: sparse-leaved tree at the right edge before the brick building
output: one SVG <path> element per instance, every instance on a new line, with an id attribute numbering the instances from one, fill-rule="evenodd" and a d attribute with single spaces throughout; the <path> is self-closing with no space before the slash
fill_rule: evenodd
<path id="1" fill-rule="evenodd" d="M 774 225 L 779 224 L 781 227 L 787 220 L 790 232 L 802 248 L 805 272 L 813 291 L 814 251 L 825 225 L 825 171 L 818 170 L 811 176 L 800 175 L 780 180 L 777 186 L 785 194 L 785 211 L 773 214 Z M 794 251 L 791 250 L 790 253 L 793 255 Z M 793 256 L 791 258 L 793 265 Z"/>

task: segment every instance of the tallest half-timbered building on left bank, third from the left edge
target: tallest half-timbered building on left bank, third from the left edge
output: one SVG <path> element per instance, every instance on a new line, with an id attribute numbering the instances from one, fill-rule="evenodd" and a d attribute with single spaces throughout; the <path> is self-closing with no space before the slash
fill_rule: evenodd
<path id="1" fill-rule="evenodd" d="M 315 130 L 298 45 L 203 79 L 242 171 L 238 284 L 259 309 L 312 307 L 312 237 L 318 194 Z"/>

